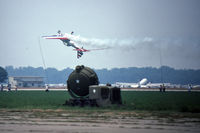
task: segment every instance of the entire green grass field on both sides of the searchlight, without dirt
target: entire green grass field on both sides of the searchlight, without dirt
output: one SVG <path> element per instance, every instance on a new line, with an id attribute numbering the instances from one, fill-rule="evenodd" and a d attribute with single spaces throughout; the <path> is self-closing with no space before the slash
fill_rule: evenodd
<path id="1" fill-rule="evenodd" d="M 124 91 L 121 95 L 122 106 L 98 108 L 98 110 L 200 112 L 199 92 Z M 0 109 L 77 109 L 77 107 L 62 105 L 69 98 L 70 96 L 66 91 L 0 92 Z M 82 108 L 82 110 L 84 109 Z"/>

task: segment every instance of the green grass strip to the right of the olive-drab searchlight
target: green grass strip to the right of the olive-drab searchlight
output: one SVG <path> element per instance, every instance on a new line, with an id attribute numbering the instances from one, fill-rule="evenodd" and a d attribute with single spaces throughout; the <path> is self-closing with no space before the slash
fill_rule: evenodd
<path id="1" fill-rule="evenodd" d="M 200 112 L 199 92 L 122 92 L 128 109 Z"/>

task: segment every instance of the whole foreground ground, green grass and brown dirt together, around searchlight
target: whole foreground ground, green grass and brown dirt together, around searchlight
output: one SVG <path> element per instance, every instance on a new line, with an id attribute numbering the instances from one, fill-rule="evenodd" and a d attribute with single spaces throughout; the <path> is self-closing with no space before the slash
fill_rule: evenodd
<path id="1" fill-rule="evenodd" d="M 19 88 L 0 92 L 2 133 L 177 133 L 200 132 L 200 92 L 187 89 L 128 89 L 123 105 L 63 106 L 65 88 Z"/>

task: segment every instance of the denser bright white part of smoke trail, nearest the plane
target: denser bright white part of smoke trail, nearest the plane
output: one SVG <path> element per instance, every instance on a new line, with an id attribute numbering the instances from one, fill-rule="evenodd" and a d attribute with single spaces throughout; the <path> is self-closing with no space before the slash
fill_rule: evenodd
<path id="1" fill-rule="evenodd" d="M 71 41 L 87 45 L 90 47 L 97 48 L 113 48 L 113 47 L 124 47 L 124 48 L 135 48 L 138 44 L 151 43 L 153 39 L 150 37 L 145 38 L 131 38 L 131 39 L 98 39 L 98 38 L 85 38 L 80 36 L 74 36 L 70 34 L 65 34 Z"/>

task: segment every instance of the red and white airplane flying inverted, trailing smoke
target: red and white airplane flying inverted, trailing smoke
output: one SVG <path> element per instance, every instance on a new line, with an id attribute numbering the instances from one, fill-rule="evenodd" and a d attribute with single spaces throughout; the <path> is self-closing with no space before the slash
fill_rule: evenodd
<path id="1" fill-rule="evenodd" d="M 71 47 L 75 48 L 74 51 L 77 51 L 77 58 L 80 58 L 83 55 L 83 52 L 89 52 L 91 50 L 103 50 L 103 49 L 88 50 L 88 49 L 84 49 L 83 47 L 80 48 L 80 47 L 76 46 L 75 43 L 72 40 L 70 40 L 70 38 L 74 37 L 73 33 L 74 32 L 72 31 L 71 34 L 65 33 L 63 35 L 63 34 L 61 34 L 61 31 L 59 30 L 58 35 L 42 36 L 42 37 L 45 39 L 60 39 L 65 46 L 68 46 L 68 47 L 71 46 Z"/>

